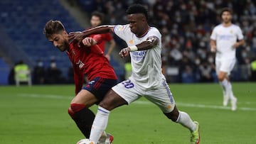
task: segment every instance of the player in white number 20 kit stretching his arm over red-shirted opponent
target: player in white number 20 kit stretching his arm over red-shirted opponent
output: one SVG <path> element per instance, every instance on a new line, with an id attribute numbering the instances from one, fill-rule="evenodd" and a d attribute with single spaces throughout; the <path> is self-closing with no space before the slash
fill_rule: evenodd
<path id="1" fill-rule="evenodd" d="M 98 107 L 95 121 L 92 125 L 90 140 L 97 142 L 105 128 L 110 111 L 124 104 L 131 104 L 141 96 L 159 106 L 164 115 L 191 131 L 191 143 L 199 143 L 199 124 L 192 121 L 188 113 L 178 111 L 166 79 L 161 72 L 161 33 L 147 23 L 147 11 L 144 6 L 134 4 L 127 9 L 129 24 L 117 26 L 100 26 L 82 33 L 70 33 L 70 39 L 80 41 L 93 33 L 114 32 L 127 43 L 119 55 L 131 56 L 132 75 L 120 82 L 106 94 Z M 78 36 L 76 36 L 78 35 Z M 82 43 L 90 43 L 85 38 Z M 90 40 L 90 39 L 88 39 Z"/>

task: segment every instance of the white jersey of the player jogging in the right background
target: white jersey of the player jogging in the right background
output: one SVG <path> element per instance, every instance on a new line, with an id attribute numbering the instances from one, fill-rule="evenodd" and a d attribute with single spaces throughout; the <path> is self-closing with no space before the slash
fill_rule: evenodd
<path id="1" fill-rule="evenodd" d="M 224 27 L 223 24 L 215 26 L 210 39 L 216 40 L 216 60 L 235 59 L 235 48 L 233 45 L 237 40 L 242 40 L 243 35 L 239 26 L 232 24 Z"/>

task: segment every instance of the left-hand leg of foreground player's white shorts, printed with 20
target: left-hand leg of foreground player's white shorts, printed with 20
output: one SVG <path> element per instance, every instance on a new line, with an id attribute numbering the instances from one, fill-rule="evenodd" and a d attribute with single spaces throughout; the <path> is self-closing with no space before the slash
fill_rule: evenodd
<path id="1" fill-rule="evenodd" d="M 141 96 L 137 90 L 137 85 L 132 82 L 132 80 L 127 79 L 123 82 L 120 82 L 119 84 L 112 87 L 112 90 L 122 97 L 125 101 L 127 101 L 127 104 L 131 104 L 133 101 L 136 101 Z"/>

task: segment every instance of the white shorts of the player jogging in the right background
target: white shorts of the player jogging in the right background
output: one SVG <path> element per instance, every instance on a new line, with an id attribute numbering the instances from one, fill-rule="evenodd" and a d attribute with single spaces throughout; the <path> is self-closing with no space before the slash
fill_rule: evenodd
<path id="1" fill-rule="evenodd" d="M 235 66 L 235 61 L 235 59 L 215 60 L 217 74 L 219 72 L 227 72 L 227 74 L 230 75 L 230 72 L 233 70 Z"/>

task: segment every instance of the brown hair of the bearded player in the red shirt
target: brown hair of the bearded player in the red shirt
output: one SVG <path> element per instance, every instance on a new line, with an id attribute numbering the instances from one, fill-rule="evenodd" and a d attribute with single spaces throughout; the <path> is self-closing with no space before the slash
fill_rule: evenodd
<path id="1" fill-rule="evenodd" d="M 50 38 L 50 35 L 60 33 L 60 31 L 65 31 L 63 23 L 61 23 L 60 21 L 50 20 L 43 28 L 43 34 L 46 35 L 46 38 Z"/>

